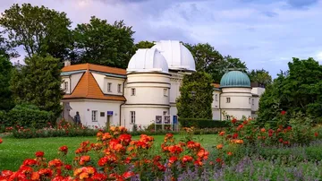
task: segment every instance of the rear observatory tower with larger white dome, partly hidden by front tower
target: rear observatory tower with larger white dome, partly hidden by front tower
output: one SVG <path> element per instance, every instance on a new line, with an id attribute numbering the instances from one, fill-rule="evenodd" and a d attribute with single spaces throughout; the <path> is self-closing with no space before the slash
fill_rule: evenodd
<path id="1" fill-rule="evenodd" d="M 196 71 L 195 61 L 189 49 L 177 40 L 161 40 L 152 48 L 157 48 L 165 56 L 171 74 L 170 115 L 177 115 L 176 99 L 180 96 L 180 86 L 184 74 Z"/>

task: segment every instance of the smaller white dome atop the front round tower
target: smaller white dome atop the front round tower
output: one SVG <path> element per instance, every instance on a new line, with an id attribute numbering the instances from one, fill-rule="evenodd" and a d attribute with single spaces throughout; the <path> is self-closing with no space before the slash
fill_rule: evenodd
<path id="1" fill-rule="evenodd" d="M 131 57 L 127 73 L 169 73 L 165 57 L 156 48 L 141 48 Z"/>

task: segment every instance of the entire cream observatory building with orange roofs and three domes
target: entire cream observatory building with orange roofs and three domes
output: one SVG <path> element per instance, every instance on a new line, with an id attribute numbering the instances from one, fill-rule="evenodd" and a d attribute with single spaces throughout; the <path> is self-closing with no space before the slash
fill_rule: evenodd
<path id="1" fill-rule="evenodd" d="M 176 99 L 184 74 L 195 71 L 191 52 L 174 40 L 139 49 L 126 70 L 103 65 L 70 65 L 62 69 L 63 116 L 72 121 L 76 112 L 83 125 L 148 126 L 156 116 L 177 118 Z M 237 118 L 255 117 L 263 88 L 252 88 L 245 73 L 225 73 L 214 85 L 213 119 L 224 113 Z"/>

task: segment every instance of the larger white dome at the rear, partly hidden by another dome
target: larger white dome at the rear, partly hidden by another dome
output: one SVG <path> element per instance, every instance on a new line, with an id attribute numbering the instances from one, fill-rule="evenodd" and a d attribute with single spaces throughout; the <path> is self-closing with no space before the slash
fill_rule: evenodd
<path id="1" fill-rule="evenodd" d="M 161 40 L 152 48 L 157 48 L 165 56 L 171 70 L 196 71 L 195 61 L 191 52 L 180 41 Z"/>

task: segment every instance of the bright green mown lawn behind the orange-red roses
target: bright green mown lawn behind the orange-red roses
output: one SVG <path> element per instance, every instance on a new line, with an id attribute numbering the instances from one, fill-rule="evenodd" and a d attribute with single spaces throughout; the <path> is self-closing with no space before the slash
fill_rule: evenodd
<path id="1" fill-rule="evenodd" d="M 1 137 L 1 135 L 0 135 Z M 155 138 L 155 148 L 152 151 L 160 151 L 160 144 L 163 142 L 164 135 L 153 136 Z M 133 139 L 138 139 L 134 136 Z M 177 141 L 181 135 L 175 135 Z M 211 149 L 216 145 L 217 136 L 215 134 L 195 136 L 196 141 L 200 142 L 206 149 Z M 47 159 L 58 157 L 58 148 L 68 146 L 68 160 L 72 161 L 74 151 L 79 147 L 80 142 L 96 142 L 96 137 L 55 137 L 55 138 L 33 138 L 33 139 L 15 139 L 12 137 L 3 137 L 4 142 L 0 144 L 0 170 L 17 170 L 24 159 L 35 158 L 36 151 L 44 151 Z"/>

